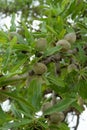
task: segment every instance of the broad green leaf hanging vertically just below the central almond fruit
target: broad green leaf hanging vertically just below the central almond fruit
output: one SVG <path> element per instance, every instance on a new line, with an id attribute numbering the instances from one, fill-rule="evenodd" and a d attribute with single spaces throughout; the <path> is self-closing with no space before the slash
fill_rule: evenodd
<path id="1" fill-rule="evenodd" d="M 39 78 L 32 79 L 28 88 L 28 100 L 31 102 L 33 107 L 38 111 L 41 106 L 41 81 Z"/>

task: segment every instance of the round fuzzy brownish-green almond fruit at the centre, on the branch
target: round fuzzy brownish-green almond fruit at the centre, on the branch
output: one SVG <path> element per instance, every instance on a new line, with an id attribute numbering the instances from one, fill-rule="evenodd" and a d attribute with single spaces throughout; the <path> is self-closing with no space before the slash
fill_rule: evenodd
<path id="1" fill-rule="evenodd" d="M 47 67 L 45 64 L 38 62 L 33 66 L 33 71 L 37 75 L 42 75 L 47 71 Z"/>

